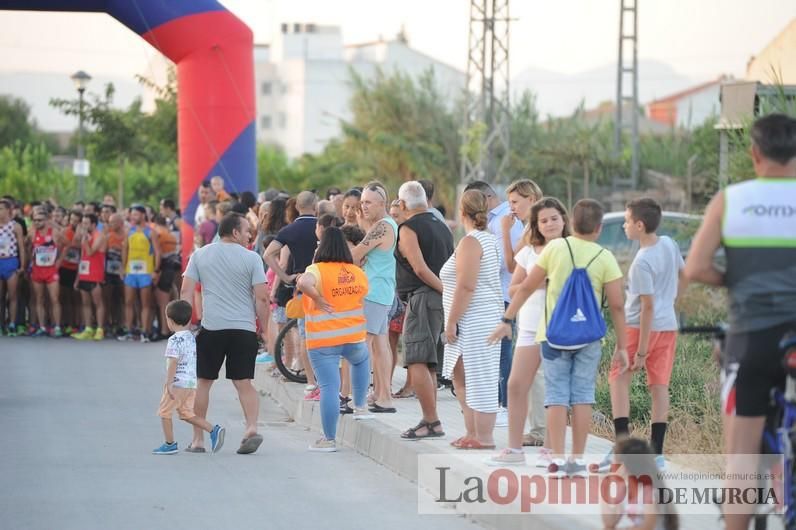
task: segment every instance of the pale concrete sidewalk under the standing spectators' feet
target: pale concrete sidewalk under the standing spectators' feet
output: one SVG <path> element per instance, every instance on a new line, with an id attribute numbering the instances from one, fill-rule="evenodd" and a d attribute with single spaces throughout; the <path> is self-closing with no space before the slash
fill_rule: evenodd
<path id="1" fill-rule="evenodd" d="M 399 388 L 403 384 L 405 370 L 396 370 L 393 386 Z M 258 365 L 255 386 L 263 393 L 270 395 L 293 419 L 314 431 L 321 431 L 320 404 L 317 401 L 304 401 L 303 385 L 286 383 L 280 377 L 273 377 L 266 365 Z M 400 433 L 413 427 L 421 419 L 420 404 L 415 398 L 395 399 L 395 414 L 377 414 L 373 421 L 354 421 L 350 415 L 340 417 L 337 430 L 338 445 L 350 447 L 371 458 L 377 463 L 412 482 L 418 481 L 418 457 L 428 454 L 463 456 L 483 455 L 483 458 L 497 453 L 508 443 L 508 429 L 495 428 L 495 451 L 461 451 L 451 447 L 450 442 L 465 433 L 464 418 L 456 397 L 448 389 L 440 390 L 437 396 L 437 412 L 442 421 L 445 437 L 441 439 L 408 441 L 400 437 Z M 571 430 L 567 429 L 567 450 L 571 447 Z M 613 443 L 609 440 L 589 435 L 586 453 L 592 455 L 606 454 Z M 539 452 L 538 448 L 526 447 L 526 461 L 533 465 Z M 541 469 L 537 470 L 542 472 Z M 480 524 L 493 528 L 526 530 L 534 528 L 570 529 L 570 528 L 602 528 L 600 518 L 594 515 L 579 516 L 561 515 L 471 515 Z M 687 523 L 687 524 L 684 524 Z M 684 521 L 681 517 L 680 528 L 715 528 L 716 517 L 689 517 Z"/>

